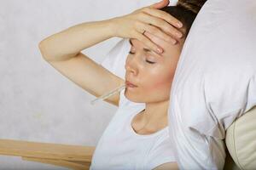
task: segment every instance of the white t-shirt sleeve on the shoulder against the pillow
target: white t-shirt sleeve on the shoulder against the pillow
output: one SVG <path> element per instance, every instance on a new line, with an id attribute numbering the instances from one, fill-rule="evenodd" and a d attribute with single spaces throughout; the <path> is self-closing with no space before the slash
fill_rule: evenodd
<path id="1" fill-rule="evenodd" d="M 149 151 L 148 158 L 146 161 L 146 169 L 154 169 L 161 164 L 167 162 L 175 162 L 175 157 L 172 150 L 172 144 L 166 138 L 160 144 L 157 144 L 152 150 Z"/>

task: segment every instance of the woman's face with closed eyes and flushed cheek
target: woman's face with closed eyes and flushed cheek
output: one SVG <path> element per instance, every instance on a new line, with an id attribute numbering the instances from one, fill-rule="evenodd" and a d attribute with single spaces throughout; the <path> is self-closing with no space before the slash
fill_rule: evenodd
<path id="1" fill-rule="evenodd" d="M 143 42 L 130 39 L 132 54 L 128 54 L 125 62 L 125 81 L 135 84 L 137 88 L 125 88 L 125 97 L 137 103 L 169 100 L 184 39 L 173 45 L 172 42 L 166 42 L 148 32 L 145 35 L 159 44 L 164 53 L 144 50 L 147 47 Z"/>

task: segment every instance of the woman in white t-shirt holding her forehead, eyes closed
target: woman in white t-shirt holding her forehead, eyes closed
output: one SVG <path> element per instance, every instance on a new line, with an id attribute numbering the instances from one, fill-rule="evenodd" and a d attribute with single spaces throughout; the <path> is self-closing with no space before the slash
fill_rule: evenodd
<path id="1" fill-rule="evenodd" d="M 205 1 L 168 3 L 72 26 L 39 43 L 50 65 L 96 97 L 126 83 L 124 91 L 106 99 L 119 110 L 96 146 L 90 169 L 177 169 L 168 139 L 169 94 L 183 42 Z M 130 39 L 125 80 L 80 52 L 110 37 Z M 128 107 L 125 99 L 145 107 Z"/>

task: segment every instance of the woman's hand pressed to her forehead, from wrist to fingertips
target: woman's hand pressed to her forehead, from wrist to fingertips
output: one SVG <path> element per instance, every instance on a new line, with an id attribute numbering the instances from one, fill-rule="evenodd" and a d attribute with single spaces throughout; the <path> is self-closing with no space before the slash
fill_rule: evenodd
<path id="1" fill-rule="evenodd" d="M 146 37 L 144 31 L 173 44 L 177 42 L 175 38 L 182 37 L 182 32 L 177 31 L 177 28 L 182 27 L 182 23 L 171 14 L 158 9 L 165 7 L 168 3 L 169 0 L 163 0 L 160 3 L 139 8 L 131 14 L 113 18 L 115 36 L 136 38 L 156 53 L 162 53 L 163 49 Z M 179 37 L 178 34 L 181 36 Z"/>

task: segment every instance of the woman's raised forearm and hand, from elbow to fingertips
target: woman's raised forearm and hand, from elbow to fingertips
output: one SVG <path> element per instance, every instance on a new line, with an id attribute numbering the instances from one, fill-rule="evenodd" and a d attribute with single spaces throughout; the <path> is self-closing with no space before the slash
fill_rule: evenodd
<path id="1" fill-rule="evenodd" d="M 55 33 L 39 43 L 44 51 L 44 58 L 48 60 L 71 59 L 84 48 L 89 48 L 110 37 L 136 38 L 158 53 L 160 48 L 156 42 L 142 35 L 143 31 L 154 33 L 166 41 L 177 37 L 177 28 L 182 24 L 172 15 L 157 8 L 165 7 L 169 1 L 162 0 L 148 7 L 139 8 L 131 14 L 110 20 L 82 23 Z M 179 23 L 179 24 L 178 24 Z M 171 24 L 171 25 L 170 25 Z M 180 32 L 181 33 L 181 32 Z M 172 35 L 172 36 L 170 36 Z"/>

